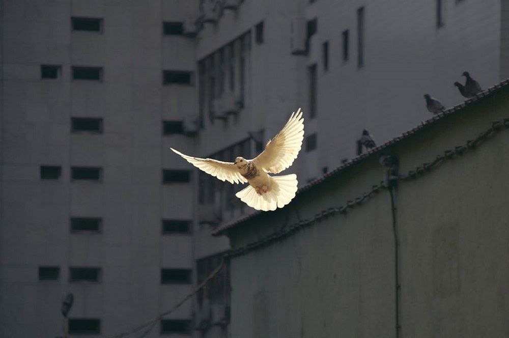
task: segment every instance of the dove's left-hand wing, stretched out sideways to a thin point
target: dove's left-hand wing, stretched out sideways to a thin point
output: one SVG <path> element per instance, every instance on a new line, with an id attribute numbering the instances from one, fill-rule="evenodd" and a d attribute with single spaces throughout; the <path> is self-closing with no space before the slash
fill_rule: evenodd
<path id="1" fill-rule="evenodd" d="M 247 180 L 240 175 L 237 166 L 233 162 L 217 161 L 212 158 L 200 158 L 187 156 L 182 154 L 178 150 L 170 148 L 176 154 L 182 156 L 186 161 L 194 165 L 195 167 L 203 170 L 207 174 L 217 177 L 221 181 L 228 181 L 230 183 L 246 183 Z"/>

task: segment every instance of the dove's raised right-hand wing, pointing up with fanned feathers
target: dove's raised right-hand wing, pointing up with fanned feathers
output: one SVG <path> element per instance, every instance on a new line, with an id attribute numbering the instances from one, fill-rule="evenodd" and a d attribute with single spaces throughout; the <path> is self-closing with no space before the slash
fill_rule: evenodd
<path id="1" fill-rule="evenodd" d="M 304 138 L 304 119 L 302 111 L 293 112 L 287 124 L 277 135 L 267 142 L 265 150 L 253 159 L 257 167 L 267 173 L 284 171 L 297 158 Z"/>

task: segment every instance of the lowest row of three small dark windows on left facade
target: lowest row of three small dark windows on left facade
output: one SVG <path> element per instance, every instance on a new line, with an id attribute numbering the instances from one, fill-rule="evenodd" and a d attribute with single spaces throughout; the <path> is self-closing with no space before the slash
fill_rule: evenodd
<path id="1" fill-rule="evenodd" d="M 60 279 L 59 266 L 40 266 L 39 280 Z M 101 283 L 100 267 L 69 267 L 69 283 Z M 191 284 L 191 269 L 161 269 L 161 284 Z"/>

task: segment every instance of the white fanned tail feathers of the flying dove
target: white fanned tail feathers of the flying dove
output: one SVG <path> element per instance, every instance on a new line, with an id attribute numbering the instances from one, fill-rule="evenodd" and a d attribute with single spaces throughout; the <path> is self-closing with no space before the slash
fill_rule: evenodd
<path id="1" fill-rule="evenodd" d="M 259 195 L 252 186 L 247 186 L 237 192 L 242 202 L 257 210 L 276 210 L 286 206 L 297 192 L 297 175 L 271 176 L 271 186 L 265 193 Z"/>

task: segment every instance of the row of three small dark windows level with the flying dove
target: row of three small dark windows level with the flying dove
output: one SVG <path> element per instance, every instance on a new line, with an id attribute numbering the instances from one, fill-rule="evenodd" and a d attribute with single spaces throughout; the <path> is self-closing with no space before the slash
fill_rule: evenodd
<path id="1" fill-rule="evenodd" d="M 40 175 L 42 180 L 58 180 L 62 176 L 61 165 L 41 165 Z M 73 181 L 102 181 L 102 168 L 94 166 L 71 167 L 71 180 Z M 179 169 L 163 169 L 162 183 L 189 183 L 191 171 Z"/>

